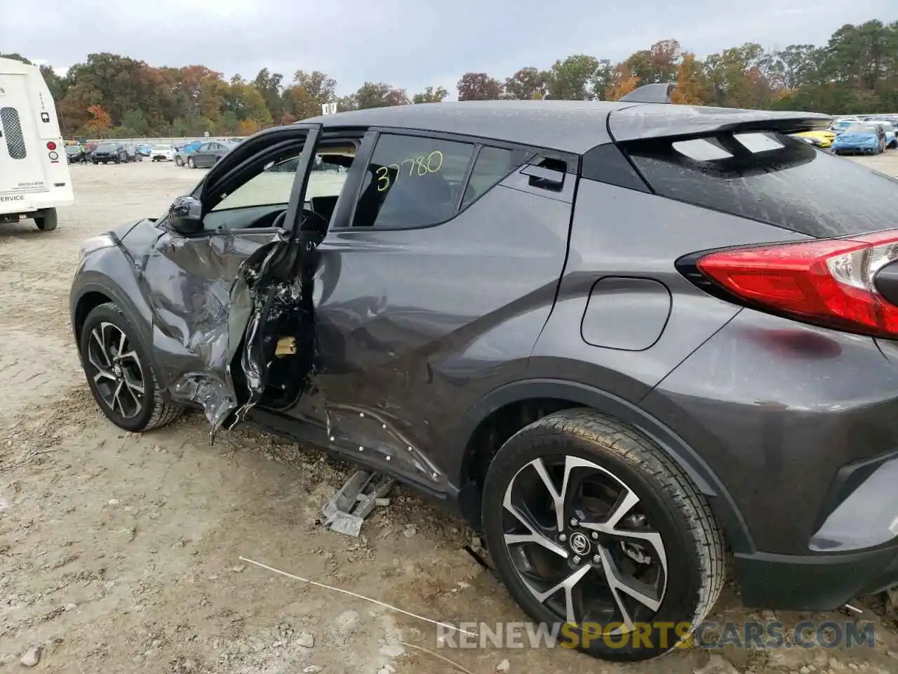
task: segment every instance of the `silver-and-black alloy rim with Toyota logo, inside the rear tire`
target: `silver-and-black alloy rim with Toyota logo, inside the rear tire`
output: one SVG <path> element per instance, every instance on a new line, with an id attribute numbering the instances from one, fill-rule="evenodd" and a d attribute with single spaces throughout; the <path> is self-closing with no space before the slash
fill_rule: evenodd
<path id="1" fill-rule="evenodd" d="M 636 492 L 579 457 L 537 458 L 508 483 L 506 551 L 524 586 L 562 622 L 633 631 L 664 600 L 667 556 Z"/>

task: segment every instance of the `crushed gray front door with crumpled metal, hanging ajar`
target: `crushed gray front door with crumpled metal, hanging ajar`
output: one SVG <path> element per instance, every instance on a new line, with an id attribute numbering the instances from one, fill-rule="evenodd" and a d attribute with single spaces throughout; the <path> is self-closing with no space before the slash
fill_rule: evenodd
<path id="1" fill-rule="evenodd" d="M 163 233 L 139 262 L 153 309 L 160 385 L 176 402 L 201 406 L 212 435 L 239 421 L 264 389 L 267 361 L 261 353 L 266 345 L 259 327 L 278 301 L 295 292 L 295 229 L 320 129 L 293 125 L 251 137 L 216 164 L 191 195 L 202 204 L 204 224 L 219 222 L 212 209 L 248 171 L 295 150 L 301 153 L 295 176 L 279 174 L 288 181 L 286 203 L 233 208 L 231 222 L 241 226 L 204 229 L 198 235 L 172 231 L 166 226 L 170 215 L 163 217 L 156 223 Z M 266 225 L 270 220 L 270 226 L 242 226 L 252 217 Z M 235 357 L 242 364 L 239 377 L 233 377 Z"/>

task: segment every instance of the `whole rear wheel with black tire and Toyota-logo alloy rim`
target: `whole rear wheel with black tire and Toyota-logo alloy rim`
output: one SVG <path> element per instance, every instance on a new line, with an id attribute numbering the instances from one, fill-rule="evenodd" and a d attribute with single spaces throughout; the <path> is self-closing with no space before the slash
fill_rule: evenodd
<path id="1" fill-rule="evenodd" d="M 669 651 L 723 588 L 724 542 L 708 502 L 660 448 L 599 412 L 564 410 L 518 431 L 490 464 L 482 503 L 512 597 L 594 657 Z"/>

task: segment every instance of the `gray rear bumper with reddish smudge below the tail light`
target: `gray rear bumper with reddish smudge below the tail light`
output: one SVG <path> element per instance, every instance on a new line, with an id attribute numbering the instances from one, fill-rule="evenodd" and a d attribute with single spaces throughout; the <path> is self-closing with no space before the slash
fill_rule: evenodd
<path id="1" fill-rule="evenodd" d="M 898 585 L 898 342 L 743 309 L 643 400 L 708 464 L 748 606 Z"/>

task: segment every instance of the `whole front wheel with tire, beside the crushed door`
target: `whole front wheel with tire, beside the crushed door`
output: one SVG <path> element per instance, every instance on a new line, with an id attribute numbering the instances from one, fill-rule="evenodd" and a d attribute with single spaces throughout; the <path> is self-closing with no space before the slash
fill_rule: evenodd
<path id="1" fill-rule="evenodd" d="M 108 302 L 93 309 L 78 343 L 87 385 L 116 426 L 152 430 L 180 415 L 180 407 L 164 401 L 149 354 L 119 306 Z"/>

